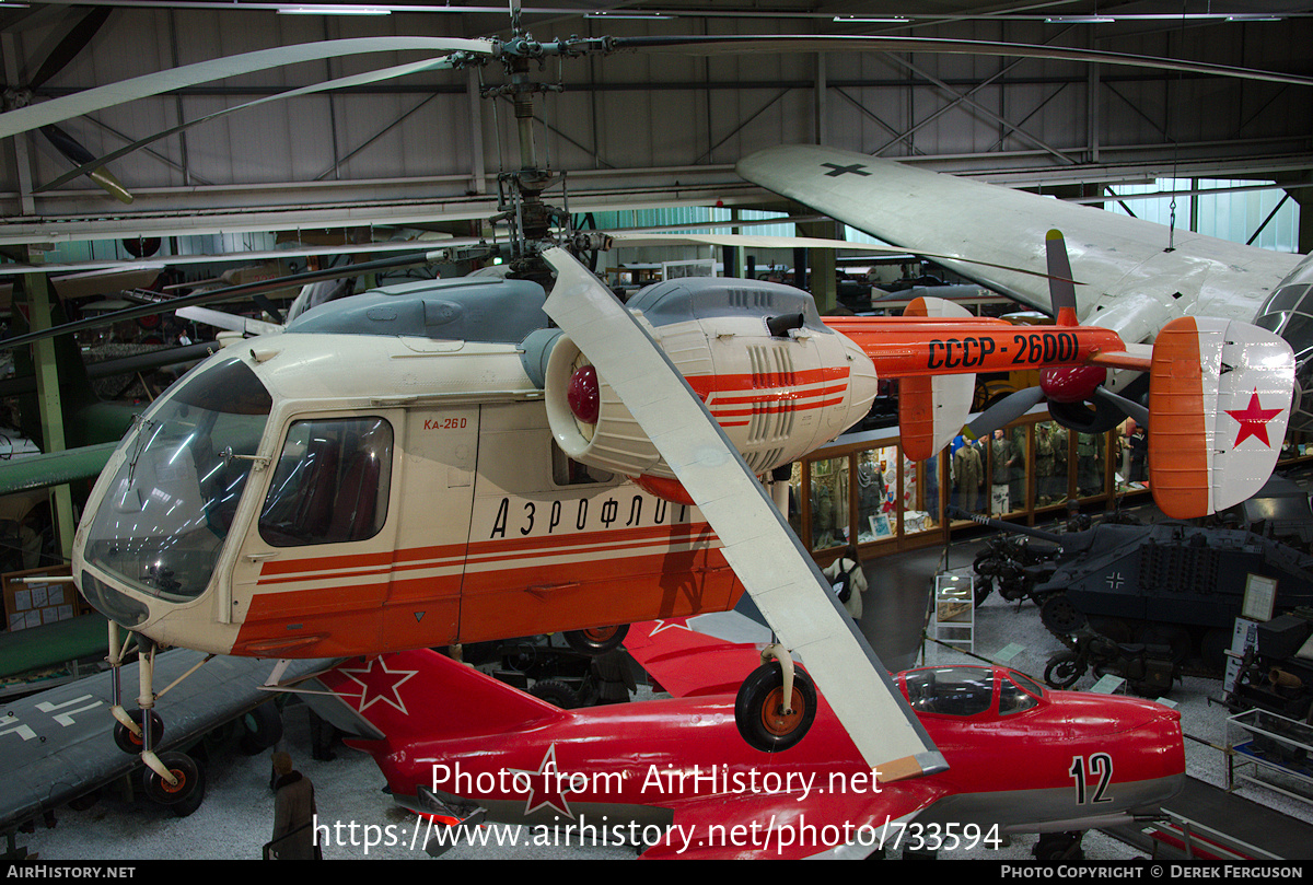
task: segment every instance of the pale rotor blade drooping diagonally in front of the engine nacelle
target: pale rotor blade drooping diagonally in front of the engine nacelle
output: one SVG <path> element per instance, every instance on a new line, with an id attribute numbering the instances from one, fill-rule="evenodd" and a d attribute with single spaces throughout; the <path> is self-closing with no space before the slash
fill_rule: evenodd
<path id="1" fill-rule="evenodd" d="M 674 470 L 771 629 L 801 655 L 863 758 L 880 769 L 880 780 L 947 767 L 884 664 L 827 591 L 811 557 L 684 377 L 569 252 L 548 249 L 544 259 L 557 270 L 544 310 L 620 395 Z"/>

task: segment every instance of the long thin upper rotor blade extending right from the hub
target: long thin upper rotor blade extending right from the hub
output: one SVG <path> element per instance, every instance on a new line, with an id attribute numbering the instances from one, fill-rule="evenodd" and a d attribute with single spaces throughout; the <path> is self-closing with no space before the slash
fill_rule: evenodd
<path id="1" fill-rule="evenodd" d="M 1067 49 L 1033 43 L 1007 43 L 982 39 L 940 39 L 935 37 L 869 37 L 861 34 L 713 34 L 706 37 L 613 37 L 616 50 L 646 53 L 684 53 L 691 55 L 746 53 L 940 53 L 949 55 L 994 55 L 1010 58 L 1044 58 L 1067 62 L 1098 62 L 1158 71 L 1183 71 L 1211 76 L 1266 80 L 1293 85 L 1313 85 L 1313 77 L 1260 71 L 1257 68 L 1184 62 L 1155 55 L 1134 55 L 1094 49 Z"/>

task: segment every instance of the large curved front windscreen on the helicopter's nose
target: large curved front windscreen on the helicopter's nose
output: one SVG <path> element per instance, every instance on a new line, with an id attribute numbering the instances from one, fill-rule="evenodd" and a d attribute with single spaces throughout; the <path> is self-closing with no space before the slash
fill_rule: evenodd
<path id="1" fill-rule="evenodd" d="M 238 358 L 167 394 L 121 446 L 126 458 L 87 529 L 87 562 L 154 596 L 198 596 L 272 406 Z"/>

